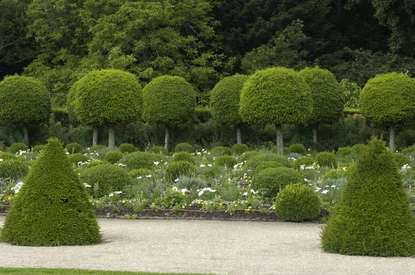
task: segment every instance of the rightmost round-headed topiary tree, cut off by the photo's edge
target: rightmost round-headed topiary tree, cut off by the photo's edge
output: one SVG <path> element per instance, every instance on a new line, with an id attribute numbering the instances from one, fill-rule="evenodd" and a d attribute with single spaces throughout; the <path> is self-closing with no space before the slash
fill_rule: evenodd
<path id="1" fill-rule="evenodd" d="M 415 79 L 398 73 L 376 75 L 362 89 L 359 104 L 371 122 L 389 126 L 389 149 L 393 152 L 396 124 L 415 115 Z"/>

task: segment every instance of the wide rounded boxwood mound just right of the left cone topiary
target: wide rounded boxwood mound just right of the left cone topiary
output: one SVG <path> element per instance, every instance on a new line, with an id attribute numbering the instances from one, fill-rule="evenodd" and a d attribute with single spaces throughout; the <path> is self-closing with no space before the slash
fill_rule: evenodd
<path id="1" fill-rule="evenodd" d="M 84 169 L 81 180 L 89 185 L 91 196 L 101 198 L 115 191 L 122 191 L 126 185 L 131 184 L 131 178 L 125 169 L 112 164 L 96 165 Z"/>

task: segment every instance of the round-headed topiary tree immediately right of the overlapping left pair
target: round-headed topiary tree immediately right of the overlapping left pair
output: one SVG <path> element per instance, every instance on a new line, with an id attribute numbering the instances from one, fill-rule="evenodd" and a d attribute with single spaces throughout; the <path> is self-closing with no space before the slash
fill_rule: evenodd
<path id="1" fill-rule="evenodd" d="M 196 93 L 182 77 L 157 77 L 143 89 L 142 117 L 146 122 L 165 125 L 165 148 L 169 147 L 170 129 L 187 120 L 196 107 Z"/>

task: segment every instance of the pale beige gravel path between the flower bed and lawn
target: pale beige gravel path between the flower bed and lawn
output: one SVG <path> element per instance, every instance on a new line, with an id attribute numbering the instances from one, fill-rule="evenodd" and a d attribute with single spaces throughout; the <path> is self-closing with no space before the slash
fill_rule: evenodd
<path id="1" fill-rule="evenodd" d="M 4 216 L 0 217 L 0 226 Z M 106 243 L 17 247 L 1 267 L 62 267 L 205 274 L 415 274 L 415 258 L 326 254 L 320 225 L 291 222 L 99 219 Z"/>

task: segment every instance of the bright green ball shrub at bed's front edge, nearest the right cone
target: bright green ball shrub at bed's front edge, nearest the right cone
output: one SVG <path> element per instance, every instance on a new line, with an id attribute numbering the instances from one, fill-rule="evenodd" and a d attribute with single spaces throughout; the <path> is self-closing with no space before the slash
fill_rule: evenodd
<path id="1" fill-rule="evenodd" d="M 320 198 L 305 184 L 288 184 L 275 198 L 275 214 L 287 222 L 315 220 L 320 216 Z"/>

